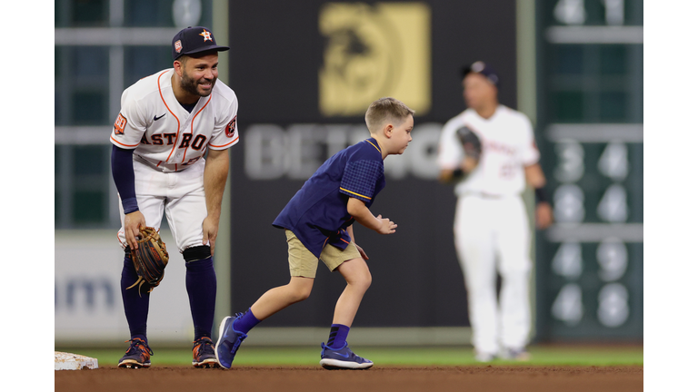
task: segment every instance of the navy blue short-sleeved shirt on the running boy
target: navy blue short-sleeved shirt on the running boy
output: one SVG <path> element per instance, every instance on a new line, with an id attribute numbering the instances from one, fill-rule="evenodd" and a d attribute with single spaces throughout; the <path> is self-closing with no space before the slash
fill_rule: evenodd
<path id="1" fill-rule="evenodd" d="M 374 138 L 337 152 L 305 181 L 274 220 L 294 232 L 317 258 L 325 245 L 341 250 L 351 242 L 346 228 L 354 218 L 346 211 L 350 197 L 371 207 L 385 187 L 383 154 Z"/>

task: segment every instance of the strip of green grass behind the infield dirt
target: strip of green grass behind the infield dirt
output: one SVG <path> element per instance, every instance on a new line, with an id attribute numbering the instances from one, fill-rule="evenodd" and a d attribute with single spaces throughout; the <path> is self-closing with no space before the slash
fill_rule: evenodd
<path id="1" fill-rule="evenodd" d="M 382 366 L 468 366 L 475 362 L 469 347 L 353 347 L 358 355 L 370 358 Z M 56 351 L 97 358 L 100 366 L 115 366 L 124 349 L 55 348 Z M 151 359 L 155 365 L 191 365 L 190 349 L 154 348 Z M 492 365 L 525 366 L 617 366 L 643 365 L 642 346 L 533 346 L 531 360 L 520 363 L 496 360 Z M 320 348 L 313 347 L 242 347 L 235 358 L 237 366 L 315 366 L 320 360 Z"/>

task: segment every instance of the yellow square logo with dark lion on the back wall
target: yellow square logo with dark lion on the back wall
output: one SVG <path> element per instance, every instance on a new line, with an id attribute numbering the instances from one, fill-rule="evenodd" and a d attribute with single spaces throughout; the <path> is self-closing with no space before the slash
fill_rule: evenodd
<path id="1" fill-rule="evenodd" d="M 431 11 L 422 3 L 327 3 L 319 16 L 324 64 L 319 105 L 324 116 L 364 115 L 385 96 L 429 112 Z"/>

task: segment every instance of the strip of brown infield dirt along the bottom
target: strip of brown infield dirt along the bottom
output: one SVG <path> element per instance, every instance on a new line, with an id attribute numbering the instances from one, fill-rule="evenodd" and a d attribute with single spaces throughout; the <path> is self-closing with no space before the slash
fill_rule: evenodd
<path id="1" fill-rule="evenodd" d="M 191 367 L 55 371 L 55 391 L 642 391 L 643 367 Z"/>

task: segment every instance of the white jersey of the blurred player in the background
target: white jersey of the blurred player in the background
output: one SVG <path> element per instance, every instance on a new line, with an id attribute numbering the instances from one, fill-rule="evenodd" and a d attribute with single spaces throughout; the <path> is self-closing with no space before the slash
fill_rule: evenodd
<path id="1" fill-rule="evenodd" d="M 501 104 L 489 119 L 474 109 L 458 114 L 446 122 L 441 134 L 437 158 L 441 169 L 460 167 L 464 151 L 455 132 L 464 125 L 480 137 L 483 153 L 474 171 L 455 186 L 455 194 L 520 194 L 525 186 L 523 167 L 538 162 L 540 157 L 528 117 Z"/>

